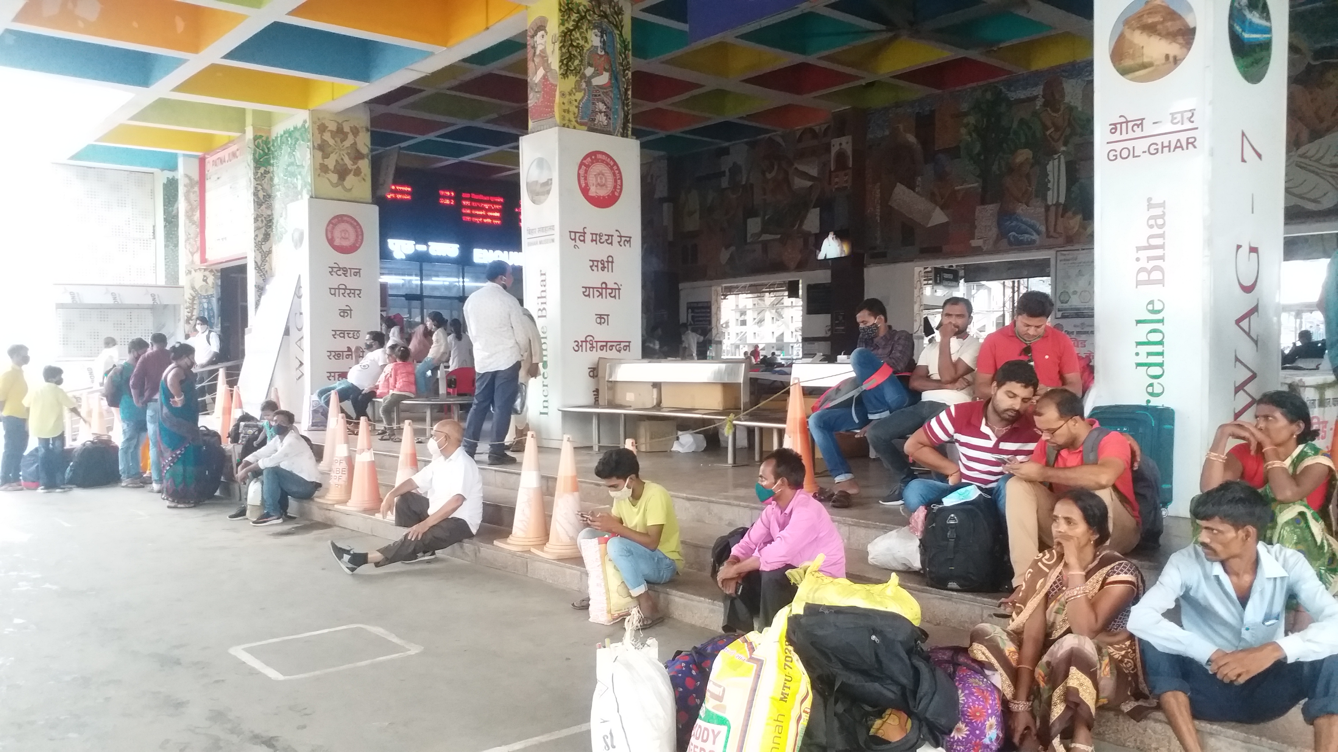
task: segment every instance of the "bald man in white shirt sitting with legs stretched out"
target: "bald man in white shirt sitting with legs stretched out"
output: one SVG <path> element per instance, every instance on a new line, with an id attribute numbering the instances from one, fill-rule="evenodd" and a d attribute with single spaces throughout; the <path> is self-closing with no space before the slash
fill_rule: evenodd
<path id="1" fill-rule="evenodd" d="M 330 553 L 344 571 L 363 565 L 432 561 L 436 551 L 474 538 L 483 522 L 483 478 L 474 458 L 460 448 L 464 427 L 443 420 L 432 427 L 427 448 L 432 462 L 381 502 L 381 516 L 395 512 L 395 525 L 408 527 L 399 541 L 379 551 L 359 553 L 330 541 Z"/>

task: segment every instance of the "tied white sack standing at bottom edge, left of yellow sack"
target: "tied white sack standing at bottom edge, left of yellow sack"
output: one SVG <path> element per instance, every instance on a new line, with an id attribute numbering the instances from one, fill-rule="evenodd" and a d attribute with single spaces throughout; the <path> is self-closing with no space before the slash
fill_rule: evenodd
<path id="1" fill-rule="evenodd" d="M 622 642 L 595 650 L 590 748 L 595 752 L 674 752 L 676 708 L 654 638 L 633 638 L 641 612 L 628 617 Z"/>

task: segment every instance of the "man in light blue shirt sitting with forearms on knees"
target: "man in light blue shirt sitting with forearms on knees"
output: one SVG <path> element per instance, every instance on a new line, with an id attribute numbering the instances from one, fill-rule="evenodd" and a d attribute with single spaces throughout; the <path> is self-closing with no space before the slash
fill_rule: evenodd
<path id="1" fill-rule="evenodd" d="M 1259 542 L 1272 510 L 1246 483 L 1204 492 L 1189 514 L 1198 545 L 1171 555 L 1129 614 L 1148 689 L 1180 745 L 1203 749 L 1195 719 L 1263 723 L 1305 700 L 1315 749 L 1338 752 L 1338 602 L 1301 553 Z M 1294 634 L 1288 597 L 1314 618 Z M 1176 601 L 1183 628 L 1161 616 Z"/>

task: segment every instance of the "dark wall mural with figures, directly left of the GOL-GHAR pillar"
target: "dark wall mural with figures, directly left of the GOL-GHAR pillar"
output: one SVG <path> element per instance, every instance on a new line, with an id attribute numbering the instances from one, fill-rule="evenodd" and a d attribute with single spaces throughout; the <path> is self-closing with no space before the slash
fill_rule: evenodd
<path id="1" fill-rule="evenodd" d="M 892 260 L 1092 242 L 1092 64 L 870 112 L 867 248 Z"/>

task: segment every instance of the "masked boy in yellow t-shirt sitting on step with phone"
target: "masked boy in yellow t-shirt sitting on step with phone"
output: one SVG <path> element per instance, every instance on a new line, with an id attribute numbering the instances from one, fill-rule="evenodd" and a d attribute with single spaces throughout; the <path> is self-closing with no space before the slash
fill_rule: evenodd
<path id="1" fill-rule="evenodd" d="M 632 450 L 609 450 L 594 466 L 594 474 L 613 496 L 613 514 L 583 515 L 590 527 L 610 533 L 609 559 L 628 583 L 628 591 L 637 599 L 642 628 L 665 620 L 660 614 L 649 582 L 664 583 L 682 569 L 682 545 L 678 541 L 678 516 L 673 511 L 669 491 L 658 483 L 641 479 L 641 464 Z M 573 606 L 590 607 L 590 599 Z"/>

